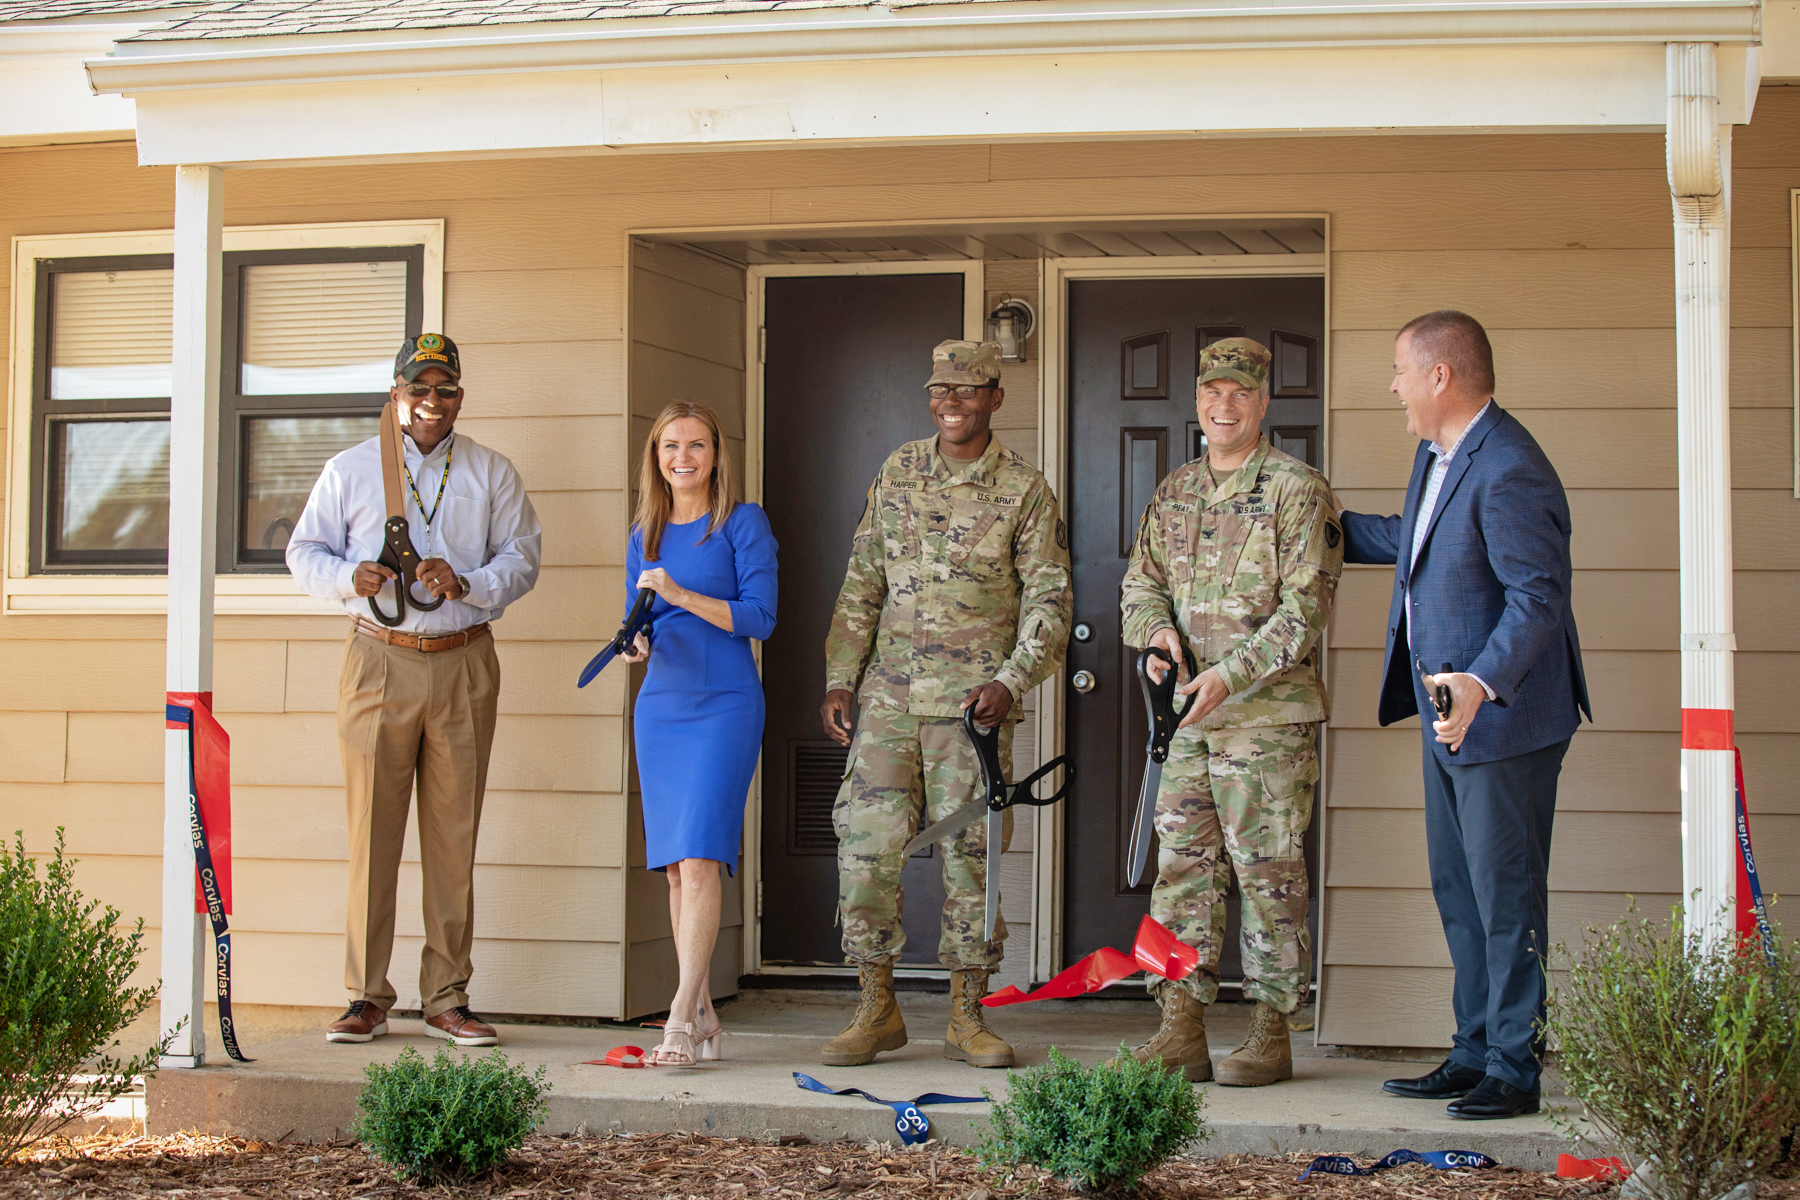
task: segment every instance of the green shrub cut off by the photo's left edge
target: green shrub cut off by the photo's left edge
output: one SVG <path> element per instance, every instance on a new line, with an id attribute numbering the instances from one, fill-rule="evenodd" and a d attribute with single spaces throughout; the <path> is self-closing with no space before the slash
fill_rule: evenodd
<path id="1" fill-rule="evenodd" d="M 83 900 L 61 829 L 41 874 L 25 835 L 13 838 L 0 840 L 0 1162 L 130 1092 L 169 1049 L 103 1052 L 157 999 L 128 986 L 144 921 L 124 930 L 115 909 Z"/>

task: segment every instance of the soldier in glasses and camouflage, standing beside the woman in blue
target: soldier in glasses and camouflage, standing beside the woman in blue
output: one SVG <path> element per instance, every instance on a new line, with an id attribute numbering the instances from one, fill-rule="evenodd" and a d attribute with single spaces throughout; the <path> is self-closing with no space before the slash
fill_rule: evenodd
<path id="1" fill-rule="evenodd" d="M 961 729 L 974 707 L 1001 725 L 1010 761 L 1019 702 L 1060 664 L 1069 639 L 1069 540 L 1044 477 L 988 432 L 1004 392 L 999 345 L 943 342 L 927 381 L 938 437 L 900 446 L 869 486 L 844 587 L 824 644 L 826 734 L 855 745 L 837 793 L 837 914 L 844 955 L 860 968 L 862 1004 L 824 1045 L 828 1067 L 871 1061 L 905 1045 L 893 995 L 902 851 L 925 820 L 976 797 L 979 766 Z M 1004 838 L 1012 837 L 1012 813 Z M 1003 846 L 977 820 L 940 842 L 943 934 L 950 968 L 947 1058 L 1012 1065 L 1012 1047 L 986 1027 L 988 975 L 1006 927 L 983 939 L 986 873 Z"/>

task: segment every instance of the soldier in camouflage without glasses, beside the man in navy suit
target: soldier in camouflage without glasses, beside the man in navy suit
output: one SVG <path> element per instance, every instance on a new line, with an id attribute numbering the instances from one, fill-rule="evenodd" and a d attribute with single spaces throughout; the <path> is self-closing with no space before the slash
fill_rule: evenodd
<path id="1" fill-rule="evenodd" d="M 1226 338 L 1201 353 L 1197 408 L 1208 453 L 1177 468 L 1145 509 L 1121 587 L 1129 646 L 1161 646 L 1199 675 L 1156 801 L 1161 840 L 1150 916 L 1201 952 L 1181 982 L 1156 981 L 1157 1034 L 1136 1051 L 1190 1079 L 1213 1078 L 1204 1006 L 1219 995 L 1224 889 L 1242 891 L 1251 1034 L 1219 1081 L 1294 1074 L 1287 1013 L 1307 997 L 1307 864 L 1325 720 L 1319 635 L 1343 572 L 1343 529 L 1325 477 L 1262 437 L 1269 351 Z M 1161 664 L 1152 660 L 1161 678 Z"/>

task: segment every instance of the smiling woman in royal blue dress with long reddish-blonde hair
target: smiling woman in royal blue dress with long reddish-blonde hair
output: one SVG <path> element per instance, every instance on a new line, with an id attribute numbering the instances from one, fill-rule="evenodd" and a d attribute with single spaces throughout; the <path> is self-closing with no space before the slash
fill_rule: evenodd
<path id="1" fill-rule="evenodd" d="M 709 966 L 724 865 L 738 873 L 743 801 L 763 745 L 763 682 L 751 639 L 776 628 L 776 540 L 756 504 L 733 498 L 731 455 L 706 405 L 677 401 L 650 428 L 630 581 L 657 594 L 652 635 L 625 655 L 646 662 L 632 711 L 644 804 L 644 864 L 666 871 L 680 986 L 648 1061 L 716 1060 Z"/>

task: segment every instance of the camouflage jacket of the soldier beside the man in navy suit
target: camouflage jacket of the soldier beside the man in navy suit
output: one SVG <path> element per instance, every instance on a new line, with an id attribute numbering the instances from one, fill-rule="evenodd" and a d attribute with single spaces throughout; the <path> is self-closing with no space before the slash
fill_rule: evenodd
<path id="1" fill-rule="evenodd" d="M 1201 669 L 1219 671 L 1231 694 L 1201 729 L 1323 721 L 1319 633 L 1343 563 L 1323 475 L 1267 439 L 1222 482 L 1197 459 L 1170 471 L 1138 525 L 1125 642 L 1179 628 Z"/>

